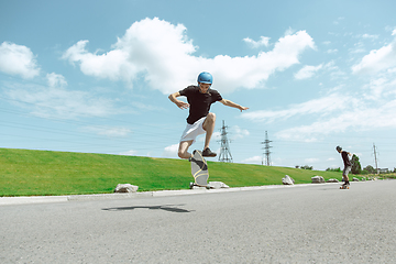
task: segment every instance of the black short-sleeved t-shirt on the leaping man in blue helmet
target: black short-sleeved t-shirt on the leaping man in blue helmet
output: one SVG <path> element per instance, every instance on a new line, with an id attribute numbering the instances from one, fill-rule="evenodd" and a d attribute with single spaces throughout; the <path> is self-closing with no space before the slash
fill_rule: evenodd
<path id="1" fill-rule="evenodd" d="M 179 91 L 180 96 L 187 97 L 190 105 L 187 123 L 194 124 L 197 120 L 208 116 L 210 105 L 221 101 L 222 97 L 217 90 L 209 89 L 207 94 L 201 94 L 198 86 L 188 86 Z"/>

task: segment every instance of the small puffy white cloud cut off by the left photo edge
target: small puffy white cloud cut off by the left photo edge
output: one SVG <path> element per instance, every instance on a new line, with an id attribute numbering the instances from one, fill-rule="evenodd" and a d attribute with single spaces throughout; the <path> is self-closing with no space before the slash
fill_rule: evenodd
<path id="1" fill-rule="evenodd" d="M 0 45 L 0 72 L 29 79 L 37 76 L 40 68 L 29 47 L 3 42 Z"/>

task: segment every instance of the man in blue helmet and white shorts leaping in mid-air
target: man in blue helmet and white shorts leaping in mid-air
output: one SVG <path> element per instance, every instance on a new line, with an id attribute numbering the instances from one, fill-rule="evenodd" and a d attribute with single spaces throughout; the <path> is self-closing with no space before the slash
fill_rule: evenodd
<path id="1" fill-rule="evenodd" d="M 168 98 L 178 108 L 189 108 L 189 116 L 187 118 L 187 127 L 182 134 L 178 156 L 180 158 L 190 158 L 193 155 L 188 152 L 188 147 L 196 141 L 199 134 L 206 133 L 205 146 L 202 156 L 213 157 L 217 154 L 209 148 L 210 139 L 212 136 L 216 123 L 216 114 L 209 112 L 210 106 L 220 101 L 227 107 L 238 108 L 239 110 L 248 110 L 249 108 L 241 107 L 230 100 L 223 99 L 221 95 L 213 89 L 210 89 L 213 82 L 213 77 L 209 73 L 200 73 L 198 76 L 198 86 L 191 85 L 187 88 L 172 94 Z M 177 97 L 187 97 L 187 102 L 180 101 Z"/>

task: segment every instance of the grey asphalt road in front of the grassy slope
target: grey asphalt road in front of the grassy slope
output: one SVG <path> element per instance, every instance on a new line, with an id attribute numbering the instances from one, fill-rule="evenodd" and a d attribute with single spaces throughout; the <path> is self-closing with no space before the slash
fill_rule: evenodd
<path id="1" fill-rule="evenodd" d="M 396 180 L 0 206 L 0 263 L 396 263 Z"/>

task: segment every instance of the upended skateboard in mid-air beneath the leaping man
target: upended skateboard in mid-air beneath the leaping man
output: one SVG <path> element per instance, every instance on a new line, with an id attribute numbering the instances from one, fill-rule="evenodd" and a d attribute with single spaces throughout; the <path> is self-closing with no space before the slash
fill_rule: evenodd
<path id="1" fill-rule="evenodd" d="M 193 152 L 191 162 L 191 174 L 194 177 L 194 183 L 190 183 L 190 189 L 194 186 L 198 187 L 206 187 L 210 189 L 208 185 L 209 172 L 208 172 L 208 164 L 205 161 L 202 153 L 200 151 L 195 150 Z"/>

